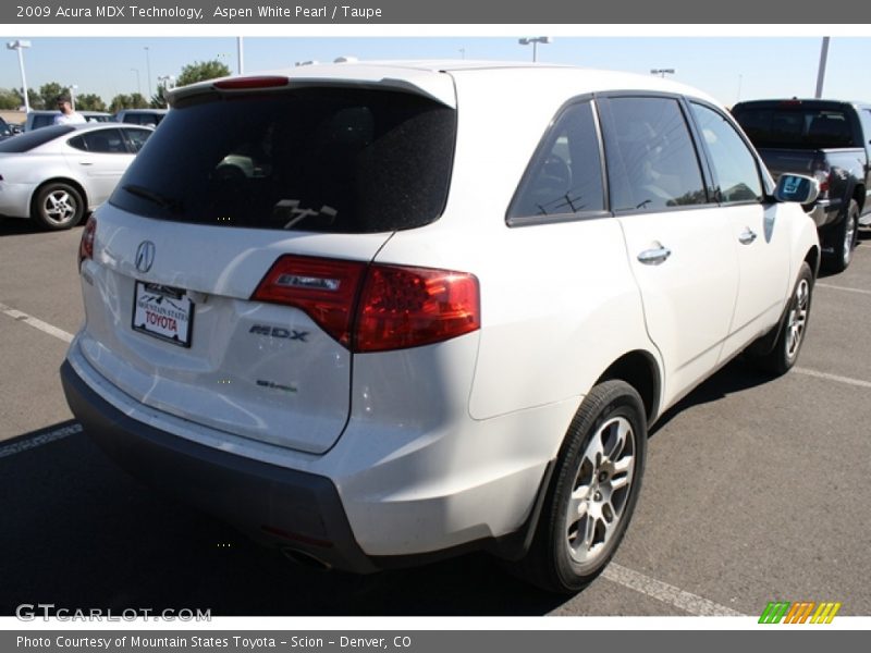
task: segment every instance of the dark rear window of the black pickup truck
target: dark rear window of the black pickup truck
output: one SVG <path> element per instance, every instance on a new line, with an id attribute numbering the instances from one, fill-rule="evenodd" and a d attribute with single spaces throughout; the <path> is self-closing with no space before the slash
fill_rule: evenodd
<path id="1" fill-rule="evenodd" d="M 858 147 L 843 111 L 801 106 L 738 108 L 735 119 L 757 147 L 824 149 Z"/>

